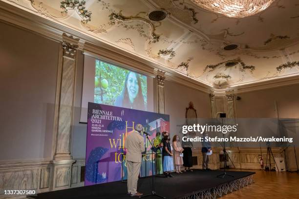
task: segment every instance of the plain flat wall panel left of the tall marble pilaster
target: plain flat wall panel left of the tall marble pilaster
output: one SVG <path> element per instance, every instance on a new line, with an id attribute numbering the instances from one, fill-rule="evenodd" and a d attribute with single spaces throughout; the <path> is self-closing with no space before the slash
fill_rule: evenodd
<path id="1" fill-rule="evenodd" d="M 0 160 L 51 157 L 59 43 L 0 22 Z"/>

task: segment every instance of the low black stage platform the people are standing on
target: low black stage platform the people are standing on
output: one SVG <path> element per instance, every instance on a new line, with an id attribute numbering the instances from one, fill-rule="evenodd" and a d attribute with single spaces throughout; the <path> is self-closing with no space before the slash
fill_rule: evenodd
<path id="1" fill-rule="evenodd" d="M 254 182 L 254 172 L 227 171 L 226 176 L 217 178 L 221 170 L 172 173 L 174 178 L 156 177 L 156 192 L 167 199 L 217 198 L 229 194 Z M 144 195 L 151 193 L 151 177 L 138 180 L 138 191 Z M 127 183 L 117 181 L 92 186 L 70 188 L 41 193 L 33 199 L 133 199 L 127 195 Z M 146 199 L 158 199 L 150 196 Z"/>

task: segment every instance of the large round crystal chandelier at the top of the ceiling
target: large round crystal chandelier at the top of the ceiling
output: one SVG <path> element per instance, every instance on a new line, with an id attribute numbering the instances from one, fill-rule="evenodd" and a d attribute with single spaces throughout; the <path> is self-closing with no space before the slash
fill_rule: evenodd
<path id="1" fill-rule="evenodd" d="M 248 17 L 268 8 L 274 0 L 191 0 L 206 10 L 227 17 Z"/>

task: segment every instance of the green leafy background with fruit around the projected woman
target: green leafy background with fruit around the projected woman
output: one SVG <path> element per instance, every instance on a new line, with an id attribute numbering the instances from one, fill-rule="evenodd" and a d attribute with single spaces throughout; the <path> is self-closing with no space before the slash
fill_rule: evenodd
<path id="1" fill-rule="evenodd" d="M 94 102 L 113 105 L 115 99 L 122 93 L 128 70 L 96 60 Z M 141 80 L 142 95 L 147 107 L 147 77 L 138 74 Z M 102 84 L 102 87 L 101 87 Z M 102 101 L 103 98 L 103 101 Z"/>

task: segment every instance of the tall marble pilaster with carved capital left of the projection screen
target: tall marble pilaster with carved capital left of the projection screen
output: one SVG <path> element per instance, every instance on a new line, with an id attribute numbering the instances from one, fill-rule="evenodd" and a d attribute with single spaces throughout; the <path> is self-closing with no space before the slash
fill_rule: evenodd
<path id="1" fill-rule="evenodd" d="M 78 43 L 79 39 L 63 34 L 56 89 L 53 190 L 69 188 L 71 184 L 74 160 L 71 157 L 70 143 Z"/>

